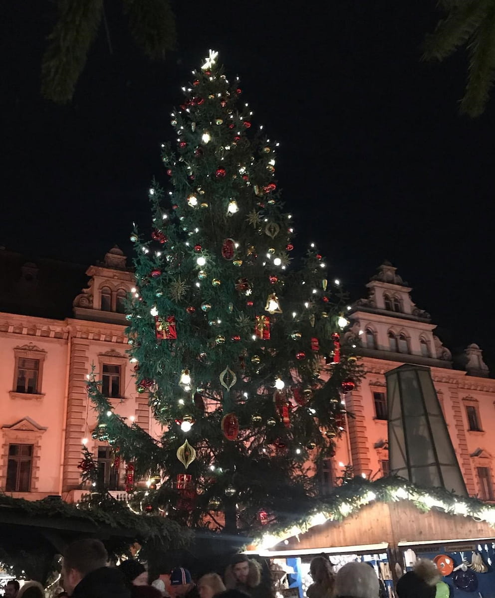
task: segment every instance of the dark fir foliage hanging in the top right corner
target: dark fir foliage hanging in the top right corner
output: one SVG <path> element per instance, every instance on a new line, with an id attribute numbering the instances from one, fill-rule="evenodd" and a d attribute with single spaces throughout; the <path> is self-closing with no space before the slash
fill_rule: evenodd
<path id="1" fill-rule="evenodd" d="M 495 80 L 495 0 L 444 0 L 440 5 L 447 14 L 427 36 L 423 57 L 442 61 L 466 46 L 469 68 L 460 112 L 478 117 Z"/>

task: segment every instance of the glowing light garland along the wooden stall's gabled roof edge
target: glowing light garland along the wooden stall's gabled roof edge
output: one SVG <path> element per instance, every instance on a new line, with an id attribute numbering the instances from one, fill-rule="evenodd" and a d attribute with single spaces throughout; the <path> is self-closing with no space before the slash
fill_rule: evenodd
<path id="1" fill-rule="evenodd" d="M 411 501 L 423 512 L 435 508 L 451 515 L 473 517 L 495 527 L 495 505 L 477 498 L 457 496 L 442 488 L 422 488 L 399 477 L 380 478 L 376 481 L 356 477 L 343 483 L 326 499 L 315 502 L 304 517 L 296 518 L 286 525 L 275 523 L 268 533 L 256 535 L 253 544 L 257 550 L 266 550 L 326 521 L 342 521 L 372 502 L 397 501 Z"/>

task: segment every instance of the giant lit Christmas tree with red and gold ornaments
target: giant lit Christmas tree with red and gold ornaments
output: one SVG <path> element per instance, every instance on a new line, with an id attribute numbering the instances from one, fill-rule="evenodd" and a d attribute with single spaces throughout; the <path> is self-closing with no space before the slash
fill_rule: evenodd
<path id="1" fill-rule="evenodd" d="M 127 463 L 129 492 L 150 477 L 131 502 L 242 532 L 308 507 L 359 372 L 339 281 L 327 280 L 314 245 L 291 266 L 278 144 L 254 132 L 238 78 L 229 82 L 210 51 L 183 91 L 171 115 L 177 148 L 163 146 L 171 190 L 153 184 L 153 230 L 131 236 L 126 316 L 137 390 L 162 433 L 128 425 L 93 378 L 95 437 Z"/>

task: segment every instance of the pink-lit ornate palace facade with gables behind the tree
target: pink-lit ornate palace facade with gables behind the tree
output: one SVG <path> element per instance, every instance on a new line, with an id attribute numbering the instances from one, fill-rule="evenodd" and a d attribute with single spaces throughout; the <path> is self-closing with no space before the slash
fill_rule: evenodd
<path id="1" fill-rule="evenodd" d="M 111 447 L 92 438 L 96 417 L 86 392 L 92 368 L 119 415 L 154 436 L 160 433 L 147 396 L 136 392 L 126 355 L 124 300 L 134 283 L 126 258 L 113 248 L 102 264 L 90 266 L 87 288 L 72 291 L 72 317 L 56 319 L 29 315 L 37 313 L 37 306 L 47 313 L 52 309 L 44 287 L 50 275 L 1 253 L 10 284 L 4 282 L 0 291 L 0 309 L 6 306 L 0 312 L 0 490 L 33 500 L 59 495 L 77 502 L 84 492 L 78 465 L 85 443 L 98 458 L 99 481 L 118 493 L 124 487 L 124 466 L 116 469 Z M 49 270 L 56 291 L 65 270 L 56 276 L 53 267 Z M 454 370 L 450 351 L 433 334 L 430 316 L 412 303 L 411 288 L 393 266 L 382 264 L 367 286 L 369 297 L 350 312 L 350 334 L 362 340 L 366 376 L 344 397 L 353 417 L 348 417 L 335 457 L 320 472 L 324 489 L 331 489 L 346 465 L 368 478 L 388 473 L 384 373 L 414 363 L 431 368 L 468 492 L 493 500 L 495 463 L 488 431 L 495 427 L 495 380 L 488 378 L 481 350 L 469 346 L 466 370 Z M 19 291 L 17 297 L 12 289 Z M 23 306 L 26 315 L 16 313 L 16 306 Z"/>

